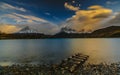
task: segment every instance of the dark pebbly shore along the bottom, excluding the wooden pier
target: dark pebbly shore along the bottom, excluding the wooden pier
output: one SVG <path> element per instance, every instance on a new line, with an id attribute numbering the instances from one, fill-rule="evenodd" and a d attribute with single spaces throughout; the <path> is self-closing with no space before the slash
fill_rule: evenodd
<path id="1" fill-rule="evenodd" d="M 0 75 L 117 75 L 120 73 L 120 63 L 84 64 L 74 72 L 70 72 L 54 65 L 13 64 L 0 66 Z"/>

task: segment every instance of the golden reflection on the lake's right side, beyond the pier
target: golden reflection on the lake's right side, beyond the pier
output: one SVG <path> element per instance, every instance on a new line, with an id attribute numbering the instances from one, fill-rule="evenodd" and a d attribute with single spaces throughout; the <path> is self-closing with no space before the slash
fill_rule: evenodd
<path id="1" fill-rule="evenodd" d="M 91 63 L 110 63 L 120 61 L 119 43 L 120 39 L 74 39 L 71 46 L 77 48 L 74 52 L 89 55 Z"/>

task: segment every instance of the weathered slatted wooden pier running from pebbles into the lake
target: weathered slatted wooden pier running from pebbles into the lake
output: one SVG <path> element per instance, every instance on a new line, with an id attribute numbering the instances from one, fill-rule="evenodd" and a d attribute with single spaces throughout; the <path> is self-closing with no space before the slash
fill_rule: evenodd
<path id="1" fill-rule="evenodd" d="M 89 56 L 83 54 L 75 54 L 59 64 L 60 69 L 67 70 L 69 72 L 75 72 L 78 68 L 82 68 L 83 64 L 87 61 Z"/>

